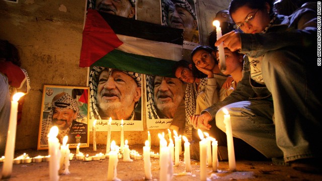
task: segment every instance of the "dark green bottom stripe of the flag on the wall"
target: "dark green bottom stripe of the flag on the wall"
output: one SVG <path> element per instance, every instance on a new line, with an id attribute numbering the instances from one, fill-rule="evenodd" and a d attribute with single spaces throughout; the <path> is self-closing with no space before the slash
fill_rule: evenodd
<path id="1" fill-rule="evenodd" d="M 172 73 L 175 63 L 176 61 L 173 60 L 126 53 L 114 49 L 93 65 L 148 75 L 175 77 Z"/>

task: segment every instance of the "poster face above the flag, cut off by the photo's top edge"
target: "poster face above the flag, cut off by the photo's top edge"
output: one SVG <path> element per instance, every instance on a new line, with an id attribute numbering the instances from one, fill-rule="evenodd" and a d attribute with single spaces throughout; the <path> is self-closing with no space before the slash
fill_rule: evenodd
<path id="1" fill-rule="evenodd" d="M 133 18 L 135 15 L 135 7 L 132 7 L 129 0 L 97 0 L 95 9 L 126 18 Z"/>

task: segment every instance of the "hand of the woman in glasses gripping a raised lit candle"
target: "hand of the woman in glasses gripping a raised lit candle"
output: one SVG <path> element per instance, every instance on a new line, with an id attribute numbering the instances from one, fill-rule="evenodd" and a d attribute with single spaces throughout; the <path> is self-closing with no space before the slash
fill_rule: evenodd
<path id="1" fill-rule="evenodd" d="M 215 46 L 218 46 L 221 42 L 223 42 L 223 47 L 227 47 L 232 52 L 241 49 L 241 39 L 239 32 L 231 31 L 224 34 L 216 41 Z"/>

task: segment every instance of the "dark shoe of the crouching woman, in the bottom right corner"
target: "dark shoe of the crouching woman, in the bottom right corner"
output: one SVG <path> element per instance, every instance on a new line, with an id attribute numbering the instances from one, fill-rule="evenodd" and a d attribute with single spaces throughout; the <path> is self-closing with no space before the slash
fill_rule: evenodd
<path id="1" fill-rule="evenodd" d="M 290 163 L 291 167 L 295 170 L 306 173 L 322 174 L 321 159 L 304 158 L 291 161 Z"/>

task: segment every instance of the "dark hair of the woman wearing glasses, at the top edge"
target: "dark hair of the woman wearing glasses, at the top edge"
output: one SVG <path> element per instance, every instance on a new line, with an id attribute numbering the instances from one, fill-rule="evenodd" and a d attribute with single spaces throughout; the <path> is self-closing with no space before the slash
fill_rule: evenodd
<path id="1" fill-rule="evenodd" d="M 238 8 L 248 6 L 250 9 L 265 10 L 266 3 L 271 7 L 270 14 L 273 13 L 273 0 L 232 0 L 229 5 L 229 15 L 231 16 Z"/>

